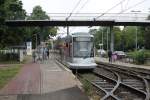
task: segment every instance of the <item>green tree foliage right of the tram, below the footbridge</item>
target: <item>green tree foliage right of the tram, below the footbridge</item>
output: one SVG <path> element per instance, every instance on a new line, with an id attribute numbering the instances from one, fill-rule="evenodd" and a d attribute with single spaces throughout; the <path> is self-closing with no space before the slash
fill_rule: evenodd
<path id="1" fill-rule="evenodd" d="M 110 31 L 108 27 L 100 27 L 99 29 L 93 29 L 90 30 L 91 34 L 94 34 L 94 42 L 95 46 L 98 49 L 99 44 L 102 43 L 102 33 L 103 33 L 103 47 L 106 50 L 107 48 L 107 31 L 108 33 L 108 48 L 110 46 Z M 138 47 L 142 48 L 144 47 L 144 42 L 147 44 L 147 47 L 150 46 L 149 42 L 149 34 L 146 34 L 143 31 L 143 27 L 133 27 L 133 26 L 127 26 L 123 29 L 123 31 L 120 30 L 119 27 L 113 27 L 112 32 L 114 33 L 114 49 L 115 50 L 121 50 L 121 51 L 130 51 L 135 49 L 135 38 L 136 38 L 136 31 L 137 31 L 137 43 Z M 146 35 L 147 40 L 144 40 L 144 34 Z M 148 41 L 148 42 L 146 42 Z M 146 45 L 145 44 L 145 45 Z"/>

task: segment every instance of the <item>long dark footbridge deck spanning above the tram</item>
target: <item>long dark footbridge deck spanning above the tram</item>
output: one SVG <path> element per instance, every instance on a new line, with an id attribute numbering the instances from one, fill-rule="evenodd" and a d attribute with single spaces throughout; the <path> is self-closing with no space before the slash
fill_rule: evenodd
<path id="1" fill-rule="evenodd" d="M 6 20 L 7 26 L 150 26 L 150 20 L 121 21 L 121 20 Z"/>

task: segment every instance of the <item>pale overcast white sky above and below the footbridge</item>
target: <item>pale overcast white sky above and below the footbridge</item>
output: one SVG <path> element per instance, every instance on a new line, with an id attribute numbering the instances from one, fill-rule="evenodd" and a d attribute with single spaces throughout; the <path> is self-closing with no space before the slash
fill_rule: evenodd
<path id="1" fill-rule="evenodd" d="M 40 5 L 47 13 L 71 13 L 79 0 L 21 0 L 23 8 L 27 13 L 32 13 L 33 7 Z M 73 13 L 105 13 L 108 9 L 120 3 L 117 7 L 108 13 L 118 13 L 126 10 L 124 13 L 131 11 L 140 11 L 140 13 L 150 13 L 150 0 L 81 0 Z M 143 2 L 142 2 L 143 1 Z M 141 4 L 136 5 L 137 3 Z M 92 27 L 93 28 L 93 27 Z M 88 27 L 71 27 L 70 32 L 84 31 L 88 32 Z M 66 32 L 65 28 L 60 28 L 59 33 Z"/>

